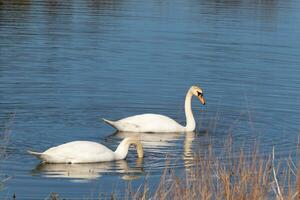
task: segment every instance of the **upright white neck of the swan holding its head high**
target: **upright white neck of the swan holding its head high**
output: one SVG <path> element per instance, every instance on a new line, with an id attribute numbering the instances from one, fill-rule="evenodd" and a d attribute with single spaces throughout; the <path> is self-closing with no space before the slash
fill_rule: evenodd
<path id="1" fill-rule="evenodd" d="M 186 126 L 184 127 L 185 131 L 194 131 L 196 128 L 196 122 L 192 111 L 192 97 L 193 93 L 191 92 L 191 90 L 189 90 L 186 94 L 184 103 L 186 117 Z"/>

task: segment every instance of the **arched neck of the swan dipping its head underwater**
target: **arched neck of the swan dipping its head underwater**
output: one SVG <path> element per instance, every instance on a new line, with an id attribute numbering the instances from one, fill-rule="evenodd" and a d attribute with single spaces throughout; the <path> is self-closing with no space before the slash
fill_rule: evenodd
<path id="1" fill-rule="evenodd" d="M 134 144 L 136 146 L 138 157 L 143 157 L 143 147 L 142 144 L 137 140 L 133 138 L 125 138 L 122 140 L 122 142 L 119 144 L 115 151 L 116 160 L 122 160 L 126 158 L 128 154 L 128 149 L 131 144 Z"/>

